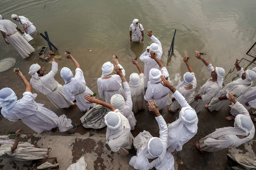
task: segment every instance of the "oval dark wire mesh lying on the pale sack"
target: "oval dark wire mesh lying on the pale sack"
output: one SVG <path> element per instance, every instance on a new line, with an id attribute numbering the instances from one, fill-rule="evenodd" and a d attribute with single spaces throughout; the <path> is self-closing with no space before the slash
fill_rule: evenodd
<path id="1" fill-rule="evenodd" d="M 88 113 L 88 115 L 86 115 L 86 117 L 84 118 L 84 122 L 82 124 L 89 125 L 98 122 L 101 118 L 105 116 L 106 112 L 107 108 L 105 108 L 104 106 L 93 108 L 91 112 Z"/>

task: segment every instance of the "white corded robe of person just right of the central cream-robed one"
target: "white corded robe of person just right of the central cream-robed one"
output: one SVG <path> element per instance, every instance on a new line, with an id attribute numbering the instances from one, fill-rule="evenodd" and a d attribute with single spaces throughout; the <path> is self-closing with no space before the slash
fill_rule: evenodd
<path id="1" fill-rule="evenodd" d="M 161 73 L 163 76 L 168 77 L 169 73 L 166 69 L 166 67 L 163 67 L 161 69 Z M 157 103 L 157 106 L 159 106 L 158 110 L 163 109 L 169 99 L 169 92 L 170 89 L 167 87 L 164 87 L 161 83 L 148 83 L 147 91 L 145 93 L 144 99 L 146 101 L 155 101 Z"/>

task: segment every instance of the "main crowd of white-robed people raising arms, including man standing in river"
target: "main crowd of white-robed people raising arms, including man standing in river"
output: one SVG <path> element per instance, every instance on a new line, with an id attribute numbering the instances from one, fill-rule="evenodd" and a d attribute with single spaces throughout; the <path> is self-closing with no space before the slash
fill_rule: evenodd
<path id="1" fill-rule="evenodd" d="M 59 117 L 45 108 L 43 104 L 35 102 L 36 94 L 32 94 L 31 87 L 46 95 L 56 108 L 77 106 L 81 112 L 86 112 L 96 104 L 102 105 L 110 110 L 104 116 L 104 122 L 107 125 L 106 143 L 113 152 L 118 152 L 122 156 L 128 155 L 134 145 L 137 154 L 131 158 L 129 163 L 135 169 L 141 170 L 153 167 L 157 170 L 174 169 L 174 159 L 171 153 L 175 150 L 181 151 L 182 146 L 195 136 L 199 121 L 197 113 L 202 108 L 210 112 L 218 111 L 232 103 L 228 105 L 232 116 L 226 119 L 235 119 L 235 122 L 234 127 L 216 129 L 196 142 L 195 146 L 200 152 L 216 152 L 224 148 L 235 148 L 253 138 L 255 129 L 248 113 L 249 108 L 256 106 L 256 89 L 251 88 L 256 78 L 253 70 L 244 71 L 236 59 L 234 65 L 239 78 L 223 87 L 225 70 L 221 67 L 214 68 L 198 51 L 195 51 L 195 57 L 205 64 L 210 72 L 210 78 L 195 92 L 197 85 L 195 73 L 185 55 L 183 61 L 189 72 L 184 74 L 184 80 L 174 88 L 170 84 L 168 70 L 161 62 L 163 54 L 161 42 L 150 29 L 147 30 L 147 35 L 154 43 L 148 46 L 139 57 L 145 63 L 144 73 L 137 58 L 131 58 L 131 61 L 136 65 L 139 74 L 132 73 L 129 83 L 125 78 L 125 68 L 120 65 L 115 55 L 112 58 L 115 65 L 111 62 L 102 65 L 102 75 L 98 78 L 97 84 L 99 97 L 105 102 L 92 96 L 93 92 L 86 86 L 83 71 L 71 54 L 65 53 L 65 56 L 75 64 L 75 75 L 69 68 L 63 67 L 61 77 L 65 84 L 63 86 L 59 84 L 54 79 L 58 63 L 50 51 L 52 68 L 48 74 L 44 74 L 44 70 L 37 63 L 32 64 L 29 68 L 29 74 L 32 76 L 29 83 L 19 69 L 13 70 L 22 79 L 26 89 L 20 100 L 17 100 L 12 89 L 0 90 L 2 115 L 10 121 L 21 119 L 37 133 L 56 130 Z M 134 19 L 130 26 L 130 40 L 135 42 L 144 40 L 143 27 L 138 19 Z M 147 88 L 146 92 L 144 88 Z M 161 113 L 168 105 L 170 91 L 173 94 L 168 111 L 172 114 L 179 111 L 179 119 L 167 125 Z M 159 138 L 152 137 L 147 131 L 139 133 L 135 138 L 131 134 L 131 130 L 135 129 L 136 125 L 134 114 L 144 110 L 145 103 L 148 103 L 149 113 L 155 115 L 159 126 Z"/>

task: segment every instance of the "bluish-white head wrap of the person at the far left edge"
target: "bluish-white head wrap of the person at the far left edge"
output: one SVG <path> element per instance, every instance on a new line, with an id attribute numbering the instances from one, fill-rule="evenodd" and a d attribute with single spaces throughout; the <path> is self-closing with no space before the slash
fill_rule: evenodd
<path id="1" fill-rule="evenodd" d="M 10 88 L 2 88 L 0 90 L 0 102 L 2 106 L 1 112 L 5 111 L 8 113 L 8 110 L 12 108 L 17 101 L 17 96 Z"/>

